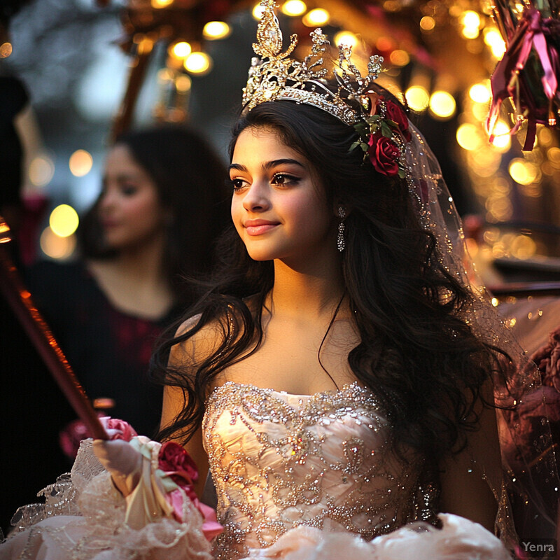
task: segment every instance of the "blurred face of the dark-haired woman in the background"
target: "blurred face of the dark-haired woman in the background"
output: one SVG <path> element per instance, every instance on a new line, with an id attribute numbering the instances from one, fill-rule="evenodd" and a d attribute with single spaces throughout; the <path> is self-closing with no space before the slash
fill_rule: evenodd
<path id="1" fill-rule="evenodd" d="M 107 246 L 134 248 L 163 231 L 167 212 L 158 189 L 124 144 L 109 152 L 103 183 L 98 211 Z"/>

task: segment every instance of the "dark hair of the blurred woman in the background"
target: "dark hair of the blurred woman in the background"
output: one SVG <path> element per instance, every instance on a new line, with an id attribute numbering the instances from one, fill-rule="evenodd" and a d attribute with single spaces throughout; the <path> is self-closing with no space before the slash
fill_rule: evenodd
<path id="1" fill-rule="evenodd" d="M 192 303 L 185 274 L 208 274 L 213 245 L 229 218 L 225 165 L 202 136 L 185 126 L 162 125 L 125 132 L 114 146 L 126 146 L 132 158 L 153 180 L 163 207 L 172 219 L 165 230 L 163 265 L 175 295 Z M 82 218 L 78 243 L 85 258 L 110 259 L 99 223 L 97 201 Z"/>

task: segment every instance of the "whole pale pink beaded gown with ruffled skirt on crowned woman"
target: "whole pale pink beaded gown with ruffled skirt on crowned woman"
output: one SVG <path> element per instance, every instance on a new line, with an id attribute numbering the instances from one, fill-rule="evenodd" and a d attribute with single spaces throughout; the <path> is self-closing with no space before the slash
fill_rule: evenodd
<path id="1" fill-rule="evenodd" d="M 426 464 L 395 453 L 388 421 L 358 384 L 290 395 L 228 382 L 207 402 L 203 433 L 224 526 L 212 555 L 194 510 L 183 523 L 130 528 L 125 498 L 86 440 L 71 476 L 43 491 L 45 505 L 20 508 L 0 558 L 510 560 L 479 524 L 436 515 Z"/>

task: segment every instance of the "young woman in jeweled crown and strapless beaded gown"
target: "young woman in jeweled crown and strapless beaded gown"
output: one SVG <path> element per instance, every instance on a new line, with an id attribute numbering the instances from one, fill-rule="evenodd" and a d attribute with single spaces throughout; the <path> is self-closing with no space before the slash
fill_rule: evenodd
<path id="1" fill-rule="evenodd" d="M 231 145 L 235 229 L 155 355 L 160 437 L 194 458 L 199 496 L 211 472 L 215 558 L 507 559 L 491 533 L 498 512 L 512 545 L 492 395 L 504 337 L 451 243 L 437 164 L 372 85 L 375 60 L 328 90 L 312 58 L 286 61 L 263 4 L 267 62 L 253 64 Z M 325 38 L 312 38 L 321 57 Z M 167 456 L 172 442 L 146 445 L 94 442 L 134 521 L 111 534 L 153 557 L 207 554 L 181 524 L 167 548 L 128 530 L 162 530 L 166 508 L 177 514 L 166 477 L 190 471 Z"/>

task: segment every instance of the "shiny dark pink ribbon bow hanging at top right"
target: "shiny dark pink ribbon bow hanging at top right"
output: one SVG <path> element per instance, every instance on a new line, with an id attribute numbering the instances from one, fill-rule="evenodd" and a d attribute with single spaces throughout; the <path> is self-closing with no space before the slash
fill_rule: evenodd
<path id="1" fill-rule="evenodd" d="M 498 62 L 491 77 L 492 104 L 487 121 L 491 140 L 500 106 L 507 97 L 512 98 L 517 111 L 517 123 L 510 130 L 510 134 L 519 130 L 523 120 L 528 122 L 524 151 L 533 149 L 537 123 L 556 125 L 553 102 L 557 97 L 560 57 L 554 38 L 559 36 L 560 22 L 552 18 L 542 19 L 540 12 L 535 8 L 525 10 L 510 37 L 510 44 L 507 46 L 503 58 Z M 529 55 L 533 50 L 542 68 L 540 81 L 548 100 L 545 108 L 538 105 L 530 91 L 530 84 L 526 83 L 523 76 L 520 76 L 521 71 L 526 69 Z"/>

